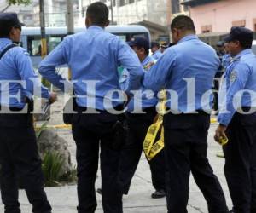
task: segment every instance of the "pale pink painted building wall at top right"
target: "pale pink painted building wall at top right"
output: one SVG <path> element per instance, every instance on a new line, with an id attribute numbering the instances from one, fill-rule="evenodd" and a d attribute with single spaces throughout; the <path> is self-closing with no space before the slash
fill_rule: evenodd
<path id="1" fill-rule="evenodd" d="M 212 25 L 212 32 L 230 32 L 232 21 L 246 20 L 246 27 L 255 31 L 256 0 L 221 0 L 190 8 L 190 16 L 195 21 L 196 33 L 201 26 Z M 256 24 L 256 23 L 255 23 Z"/>

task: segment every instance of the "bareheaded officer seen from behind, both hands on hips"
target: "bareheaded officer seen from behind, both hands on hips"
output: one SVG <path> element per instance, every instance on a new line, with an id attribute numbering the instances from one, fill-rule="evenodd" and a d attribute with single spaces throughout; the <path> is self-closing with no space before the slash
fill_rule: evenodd
<path id="1" fill-rule="evenodd" d="M 113 100 L 105 96 L 113 89 L 120 89 L 118 66 L 124 66 L 130 73 L 127 92 L 139 88 L 143 67 L 126 43 L 104 30 L 109 24 L 108 7 L 104 3 L 90 4 L 85 23 L 87 30 L 66 37 L 41 62 L 39 72 L 63 90 L 62 78 L 55 67 L 68 64 L 72 70 L 76 110 L 79 112 L 73 116 L 72 124 L 77 145 L 79 213 L 96 210 L 99 145 L 103 210 L 120 213 L 123 212 L 122 192 L 117 181 L 120 146 L 115 140 L 118 116 L 108 111 L 119 110 L 124 101 L 119 96 L 114 96 Z"/>

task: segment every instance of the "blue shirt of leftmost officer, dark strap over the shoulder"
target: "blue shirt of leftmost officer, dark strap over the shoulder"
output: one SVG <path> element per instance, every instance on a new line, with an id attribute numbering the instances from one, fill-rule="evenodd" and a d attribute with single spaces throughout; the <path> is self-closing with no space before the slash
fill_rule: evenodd
<path id="1" fill-rule="evenodd" d="M 12 41 L 8 38 L 0 38 L 0 52 L 3 51 Z M 41 89 L 41 96 L 49 99 L 49 90 L 42 86 L 38 75 L 33 70 L 32 61 L 25 49 L 15 47 L 9 49 L 0 60 L 0 80 L 1 81 L 24 81 L 24 85 L 20 83 L 10 83 L 9 91 L 6 83 L 1 83 L 0 88 L 0 105 L 5 107 L 25 107 L 25 96 L 32 98 L 34 88 Z M 6 99 L 7 94 L 17 95 L 19 98 Z M 35 95 L 37 95 L 35 93 Z"/>

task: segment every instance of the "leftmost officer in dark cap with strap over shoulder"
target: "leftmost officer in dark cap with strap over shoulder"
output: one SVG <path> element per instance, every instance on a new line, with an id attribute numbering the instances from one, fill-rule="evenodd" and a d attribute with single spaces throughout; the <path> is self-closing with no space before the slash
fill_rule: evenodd
<path id="1" fill-rule="evenodd" d="M 41 160 L 30 112 L 32 95 L 36 94 L 34 89 L 40 90 L 42 97 L 50 102 L 56 100 L 56 95 L 41 85 L 26 50 L 14 44 L 20 42 L 22 26 L 17 14 L 0 14 L 1 196 L 6 213 L 20 212 L 19 180 L 32 204 L 32 212 L 49 213 L 51 207 L 44 193 Z"/>

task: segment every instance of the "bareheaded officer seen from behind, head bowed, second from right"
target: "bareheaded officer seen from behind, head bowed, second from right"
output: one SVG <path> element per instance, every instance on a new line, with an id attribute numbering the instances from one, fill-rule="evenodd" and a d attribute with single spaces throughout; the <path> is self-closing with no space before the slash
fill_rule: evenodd
<path id="1" fill-rule="evenodd" d="M 195 36 L 193 20 L 188 16 L 174 18 L 171 30 L 177 45 L 166 50 L 143 80 L 147 89 L 167 89 L 168 94 L 169 112 L 164 116 L 168 212 L 187 212 L 190 171 L 209 212 L 227 212 L 223 190 L 207 159 L 211 101 L 208 97 L 202 100 L 212 88 L 218 56 Z M 193 90 L 195 93 L 190 94 Z"/>

